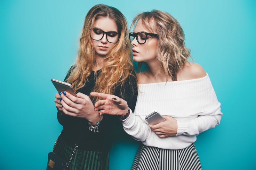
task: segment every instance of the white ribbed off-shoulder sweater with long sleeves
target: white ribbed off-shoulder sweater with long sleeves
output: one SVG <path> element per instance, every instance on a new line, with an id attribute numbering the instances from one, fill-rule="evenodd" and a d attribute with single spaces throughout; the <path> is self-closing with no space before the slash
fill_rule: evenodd
<path id="1" fill-rule="evenodd" d="M 176 136 L 160 138 L 149 128 L 144 118 L 154 111 L 177 120 Z M 192 80 L 139 84 L 134 113 L 123 126 L 146 146 L 183 149 L 195 142 L 199 133 L 220 124 L 221 116 L 220 102 L 207 74 Z"/>

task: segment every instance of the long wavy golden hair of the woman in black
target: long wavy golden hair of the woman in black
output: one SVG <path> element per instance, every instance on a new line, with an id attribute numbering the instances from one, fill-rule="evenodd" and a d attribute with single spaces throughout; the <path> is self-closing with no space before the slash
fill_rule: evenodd
<path id="1" fill-rule="evenodd" d="M 92 46 L 90 33 L 93 29 L 94 22 L 99 17 L 113 19 L 117 24 L 118 33 L 121 34 L 119 41 L 104 59 L 104 64 L 100 74 L 97 75 L 94 87 L 94 92 L 113 94 L 117 85 L 121 85 L 122 87 L 125 79 L 130 75 L 134 75 L 132 74 L 133 65 L 126 18 L 118 9 L 108 5 L 95 5 L 86 14 L 78 55 L 67 82 L 77 91 L 88 81 L 88 76 L 90 76 L 91 70 L 93 70 L 96 64 L 95 50 Z M 97 100 L 99 98 L 94 99 L 94 101 Z"/>

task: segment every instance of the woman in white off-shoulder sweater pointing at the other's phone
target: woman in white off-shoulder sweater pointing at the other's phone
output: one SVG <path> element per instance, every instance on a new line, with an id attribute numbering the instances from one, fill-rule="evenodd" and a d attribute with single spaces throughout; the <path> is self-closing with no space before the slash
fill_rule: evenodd
<path id="1" fill-rule="evenodd" d="M 132 25 L 132 55 L 141 71 L 135 111 L 127 115 L 123 99 L 92 92 L 92 96 L 106 99 L 97 101 L 95 110 L 126 115 L 124 130 L 142 142 L 132 170 L 202 169 L 194 145 L 196 136 L 220 124 L 222 116 L 210 78 L 199 64 L 189 62 L 183 30 L 170 14 L 143 12 Z M 148 121 L 156 111 L 164 119 L 158 115 Z"/>

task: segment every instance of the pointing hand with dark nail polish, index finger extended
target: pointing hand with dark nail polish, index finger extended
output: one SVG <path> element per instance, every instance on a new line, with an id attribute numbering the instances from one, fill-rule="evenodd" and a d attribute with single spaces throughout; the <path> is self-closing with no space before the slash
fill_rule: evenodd
<path id="1" fill-rule="evenodd" d="M 91 96 L 100 97 L 106 100 L 99 100 L 95 103 L 95 111 L 100 110 L 100 115 L 108 114 L 108 115 L 125 115 L 129 107 L 127 102 L 115 95 L 91 92 Z"/>

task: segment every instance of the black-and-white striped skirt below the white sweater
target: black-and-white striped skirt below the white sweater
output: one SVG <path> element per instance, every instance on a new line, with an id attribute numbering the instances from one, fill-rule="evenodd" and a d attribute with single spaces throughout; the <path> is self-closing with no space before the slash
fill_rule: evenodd
<path id="1" fill-rule="evenodd" d="M 202 170 L 193 144 L 179 150 L 140 145 L 132 170 Z"/>

